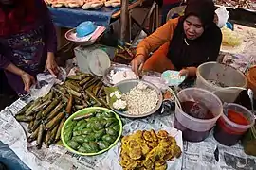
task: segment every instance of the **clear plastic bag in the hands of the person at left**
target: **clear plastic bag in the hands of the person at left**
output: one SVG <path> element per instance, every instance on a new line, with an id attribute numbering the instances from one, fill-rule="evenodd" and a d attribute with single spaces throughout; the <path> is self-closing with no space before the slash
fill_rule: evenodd
<path id="1" fill-rule="evenodd" d="M 36 76 L 37 82 L 30 87 L 31 98 L 37 99 L 49 93 L 55 83 L 62 84 L 66 78 L 65 70 L 60 67 L 57 77 L 52 76 L 49 72 L 44 72 Z"/>

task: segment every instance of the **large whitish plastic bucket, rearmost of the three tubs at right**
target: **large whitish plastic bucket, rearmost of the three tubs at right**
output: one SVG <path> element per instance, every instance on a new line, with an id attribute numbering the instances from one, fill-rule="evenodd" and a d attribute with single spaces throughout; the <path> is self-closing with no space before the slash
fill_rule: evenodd
<path id="1" fill-rule="evenodd" d="M 227 103 L 234 102 L 239 93 L 247 88 L 247 77 L 244 76 L 242 72 L 218 62 L 206 62 L 201 64 L 197 68 L 196 76 L 196 87 L 213 92 L 223 102 Z M 226 88 L 214 85 L 210 81 L 225 85 Z"/>

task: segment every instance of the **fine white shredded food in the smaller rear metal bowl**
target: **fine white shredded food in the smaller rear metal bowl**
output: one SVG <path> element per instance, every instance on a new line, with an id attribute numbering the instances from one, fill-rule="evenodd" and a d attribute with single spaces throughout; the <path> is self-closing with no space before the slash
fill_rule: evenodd
<path id="1" fill-rule="evenodd" d="M 110 80 L 112 84 L 117 84 L 120 81 L 127 80 L 127 79 L 136 79 L 137 76 L 132 70 L 125 70 L 125 71 L 117 71 L 114 70 L 110 71 Z"/>

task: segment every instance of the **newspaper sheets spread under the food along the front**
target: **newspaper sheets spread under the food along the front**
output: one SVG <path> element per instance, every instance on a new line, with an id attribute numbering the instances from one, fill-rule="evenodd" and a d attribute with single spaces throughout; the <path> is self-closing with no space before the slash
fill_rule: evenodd
<path id="1" fill-rule="evenodd" d="M 73 169 L 99 169 L 105 170 L 111 165 L 113 160 L 118 161 L 119 158 L 113 158 L 109 154 L 115 152 L 112 150 L 95 157 L 82 157 L 67 151 L 61 145 L 51 145 L 50 148 L 43 147 L 38 150 L 34 143 L 27 143 L 27 134 L 25 125 L 19 124 L 13 115 L 25 106 L 25 102 L 17 100 L 9 108 L 0 112 L 0 137 L 1 141 L 9 144 L 9 147 L 24 161 L 31 169 L 50 169 L 50 170 L 73 170 Z M 163 112 L 150 117 L 137 120 L 139 125 L 151 125 L 153 127 L 170 128 L 173 127 L 174 113 Z M 134 122 L 130 119 L 123 119 L 124 125 Z M 125 133 L 125 132 L 124 132 Z M 116 154 L 117 155 L 117 154 Z M 236 144 L 227 147 L 215 141 L 212 134 L 204 142 L 201 143 L 183 143 L 183 154 L 180 163 L 175 163 L 174 169 L 182 170 L 256 170 L 256 157 L 247 156 L 243 147 Z M 108 165 L 104 164 L 109 163 Z M 103 163 L 103 164 L 102 164 Z M 105 167 L 105 168 L 104 168 Z M 110 169 L 109 168 L 109 169 Z"/>

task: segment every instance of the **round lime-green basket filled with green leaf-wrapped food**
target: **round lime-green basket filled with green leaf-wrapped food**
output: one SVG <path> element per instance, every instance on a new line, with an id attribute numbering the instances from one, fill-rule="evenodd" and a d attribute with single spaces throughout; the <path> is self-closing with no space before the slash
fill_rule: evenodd
<path id="1" fill-rule="evenodd" d="M 64 142 L 82 153 L 98 153 L 118 140 L 121 125 L 112 111 L 101 109 L 84 112 L 64 126 Z"/>

